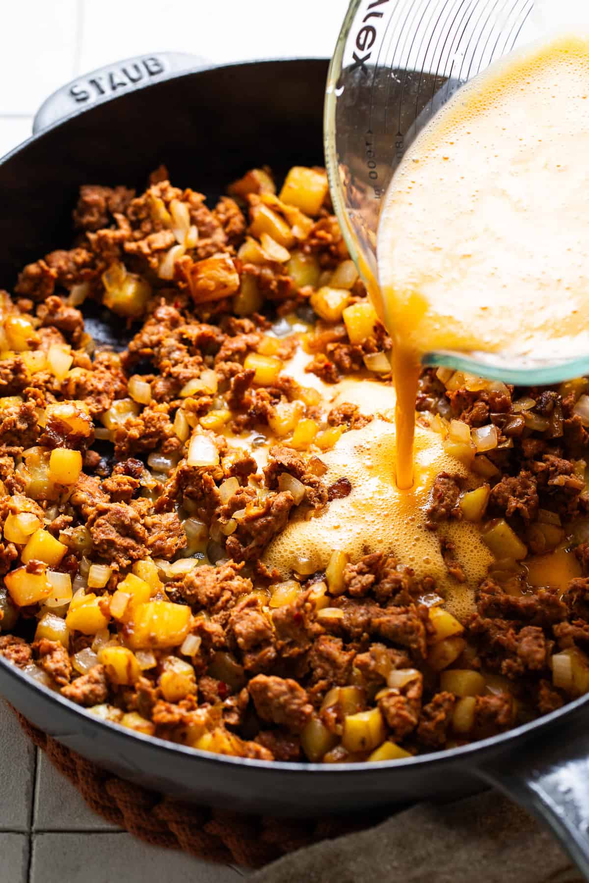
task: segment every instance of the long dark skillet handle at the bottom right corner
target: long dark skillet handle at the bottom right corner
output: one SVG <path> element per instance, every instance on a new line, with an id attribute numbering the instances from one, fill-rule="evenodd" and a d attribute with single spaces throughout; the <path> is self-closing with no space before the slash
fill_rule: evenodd
<path id="1" fill-rule="evenodd" d="M 476 771 L 549 826 L 589 880 L 589 738 L 561 730 Z M 556 740 L 562 740 L 555 751 Z M 560 757 L 558 756 L 560 753 Z"/>

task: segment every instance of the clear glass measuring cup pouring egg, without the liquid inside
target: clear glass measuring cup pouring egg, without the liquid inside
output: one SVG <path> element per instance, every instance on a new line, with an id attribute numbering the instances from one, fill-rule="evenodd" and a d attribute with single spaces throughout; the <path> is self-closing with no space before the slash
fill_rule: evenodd
<path id="1" fill-rule="evenodd" d="M 412 141 L 457 89 L 495 60 L 556 29 L 586 28 L 587 5 L 351 0 L 328 73 L 325 155 L 336 215 L 369 292 L 378 284 L 381 201 Z M 589 353 L 524 363 L 497 353 L 436 351 L 424 364 L 531 386 L 588 373 Z"/>

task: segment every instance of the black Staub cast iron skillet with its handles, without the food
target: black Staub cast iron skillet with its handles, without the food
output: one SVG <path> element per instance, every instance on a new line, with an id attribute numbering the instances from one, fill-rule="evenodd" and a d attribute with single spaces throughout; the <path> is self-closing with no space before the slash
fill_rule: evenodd
<path id="1" fill-rule="evenodd" d="M 327 66 L 297 59 L 207 68 L 163 54 L 64 87 L 42 106 L 34 137 L 0 162 L 0 286 L 11 290 L 26 261 L 70 242 L 81 184 L 142 188 L 165 162 L 174 184 L 215 197 L 261 163 L 278 173 L 293 163 L 321 163 Z M 90 330 L 121 345 L 120 328 L 93 321 Z M 222 757 L 134 734 L 1 657 L 0 692 L 35 726 L 97 764 L 149 788 L 235 810 L 358 812 L 495 785 L 545 819 L 589 879 L 589 698 L 464 748 L 396 763 L 321 766 Z"/>

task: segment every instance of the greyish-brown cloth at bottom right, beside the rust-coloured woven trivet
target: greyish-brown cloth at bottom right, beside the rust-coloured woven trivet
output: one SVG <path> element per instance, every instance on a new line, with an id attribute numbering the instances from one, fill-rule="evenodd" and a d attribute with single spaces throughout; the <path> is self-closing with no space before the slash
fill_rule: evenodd
<path id="1" fill-rule="evenodd" d="M 381 825 L 299 849 L 252 883 L 583 883 L 552 834 L 489 791 L 419 804 Z"/>

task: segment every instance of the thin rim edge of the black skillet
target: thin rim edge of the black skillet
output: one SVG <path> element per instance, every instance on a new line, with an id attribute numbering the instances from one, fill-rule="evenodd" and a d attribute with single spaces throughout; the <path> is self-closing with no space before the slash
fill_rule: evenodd
<path id="1" fill-rule="evenodd" d="M 66 125 L 70 120 L 79 117 L 82 114 L 91 113 L 94 108 L 102 107 L 103 104 L 116 101 L 118 98 L 123 98 L 130 94 L 139 93 L 145 89 L 162 86 L 163 83 L 167 83 L 170 80 L 182 79 L 199 73 L 207 73 L 217 70 L 230 71 L 232 68 L 243 68 L 244 66 L 252 67 L 253 65 L 259 64 L 301 64 L 311 62 L 325 64 L 327 78 L 329 59 L 327 57 L 321 56 L 287 58 L 264 57 L 260 59 L 246 59 L 244 61 L 227 62 L 223 64 L 216 64 L 215 62 L 199 63 L 195 60 L 195 64 L 193 66 L 187 67 L 184 70 L 168 72 L 160 79 L 152 82 L 143 83 L 140 86 L 136 86 L 132 90 L 121 93 L 119 95 L 109 95 L 108 98 L 104 98 L 102 101 L 93 102 L 92 104 L 89 104 L 85 107 L 72 110 L 71 113 L 68 113 L 64 117 L 58 117 L 55 122 L 43 128 L 42 131 L 32 134 L 25 141 L 22 141 L 19 145 L 13 147 L 11 151 L 9 151 L 9 153 L 0 157 L 0 165 L 4 165 L 4 163 L 9 162 L 13 156 L 24 152 L 26 148 L 29 147 L 31 144 L 42 140 L 46 134 L 48 134 L 49 132 L 53 132 L 53 130 L 55 130 L 59 126 Z M 59 710 L 59 712 L 64 711 L 67 713 L 72 713 L 74 716 L 79 716 L 81 720 L 85 721 L 91 728 L 96 728 L 99 732 L 101 730 L 103 732 L 106 731 L 112 734 L 115 738 L 128 740 L 128 744 L 130 747 L 132 747 L 132 743 L 134 743 L 135 740 L 139 739 L 140 742 L 144 743 L 146 746 L 152 747 L 156 751 L 163 751 L 166 754 L 170 755 L 171 758 L 173 758 L 175 755 L 180 755 L 187 760 L 193 760 L 193 762 L 204 761 L 209 765 L 219 766 L 221 770 L 226 769 L 228 766 L 229 768 L 231 766 L 238 766 L 251 768 L 259 772 L 265 772 L 266 774 L 271 774 L 273 770 L 276 770 L 286 774 L 297 774 L 298 776 L 303 773 L 332 776 L 343 772 L 349 775 L 353 773 L 366 775 L 372 771 L 374 771 L 374 773 L 380 773 L 383 770 L 401 768 L 407 771 L 421 770 L 423 772 L 427 772 L 430 767 L 440 764 L 442 763 L 442 761 L 457 764 L 463 761 L 468 764 L 468 761 L 472 758 L 480 760 L 482 765 L 484 764 L 485 756 L 493 754 L 494 750 L 504 749 L 504 747 L 509 743 L 521 740 L 524 736 L 533 736 L 542 730 L 547 732 L 547 730 L 553 728 L 553 726 L 559 721 L 565 720 L 568 717 L 573 717 L 584 707 L 589 708 L 589 694 L 587 694 L 585 696 L 574 699 L 572 702 L 567 703 L 562 708 L 556 709 L 554 712 L 543 715 L 542 717 L 537 718 L 534 721 L 529 721 L 528 723 L 522 724 L 517 728 L 510 729 L 506 733 L 501 733 L 498 736 L 490 736 L 487 739 L 482 739 L 479 742 L 468 743 L 458 748 L 445 749 L 443 751 L 431 751 L 427 754 L 420 754 L 412 758 L 404 758 L 400 760 L 383 760 L 370 764 L 366 761 L 342 764 L 319 764 L 306 763 L 302 761 L 286 762 L 281 760 L 268 762 L 264 760 L 256 760 L 253 758 L 235 758 L 230 757 L 230 755 L 215 754 L 211 751 L 201 751 L 196 748 L 191 748 L 187 745 L 182 745 L 179 743 L 170 742 L 169 740 L 161 739 L 159 736 L 145 736 L 144 734 L 138 733 L 135 730 L 120 727 L 119 725 L 111 721 L 103 721 L 101 718 L 88 711 L 87 708 L 84 708 L 83 706 L 78 706 L 70 699 L 61 696 L 56 691 L 50 690 L 49 687 L 44 686 L 42 683 L 35 682 L 34 678 L 30 677 L 29 675 L 25 675 L 24 672 L 14 666 L 8 660 L 5 660 L 2 656 L 0 656 L 0 672 L 4 673 L 2 676 L 7 675 L 14 682 L 19 683 L 20 689 L 22 689 L 23 691 L 29 691 L 33 698 L 37 698 L 39 694 L 41 694 L 41 696 L 44 698 L 44 701 L 49 703 L 49 706 L 53 704 L 53 706 L 57 710 Z M 57 741 L 59 741 L 59 736 L 52 737 L 56 738 Z M 471 766 L 476 766 L 476 764 L 472 764 Z M 144 772 L 147 774 L 148 771 Z"/>

